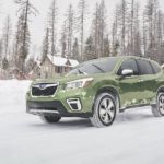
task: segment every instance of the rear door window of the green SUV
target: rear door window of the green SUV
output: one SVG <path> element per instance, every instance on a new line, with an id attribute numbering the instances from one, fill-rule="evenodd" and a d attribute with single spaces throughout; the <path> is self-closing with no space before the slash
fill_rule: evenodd
<path id="1" fill-rule="evenodd" d="M 138 65 L 139 65 L 139 69 L 140 69 L 141 75 L 154 74 L 153 69 L 152 69 L 152 67 L 151 67 L 149 61 L 147 61 L 147 60 L 138 60 Z"/>

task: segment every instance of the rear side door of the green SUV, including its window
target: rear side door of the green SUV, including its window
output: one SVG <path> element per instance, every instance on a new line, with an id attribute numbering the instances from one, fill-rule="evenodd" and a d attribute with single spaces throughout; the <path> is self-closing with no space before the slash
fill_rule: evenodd
<path id="1" fill-rule="evenodd" d="M 144 59 L 137 60 L 139 67 L 139 81 L 141 84 L 141 103 L 150 104 L 156 92 L 156 75 L 151 62 Z"/>

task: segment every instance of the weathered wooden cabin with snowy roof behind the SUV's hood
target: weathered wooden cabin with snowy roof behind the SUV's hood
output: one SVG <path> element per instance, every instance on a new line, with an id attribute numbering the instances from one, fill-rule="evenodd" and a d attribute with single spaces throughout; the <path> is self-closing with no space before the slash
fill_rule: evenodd
<path id="1" fill-rule="evenodd" d="M 40 78 L 59 77 L 78 66 L 77 60 L 48 55 L 40 63 Z"/>

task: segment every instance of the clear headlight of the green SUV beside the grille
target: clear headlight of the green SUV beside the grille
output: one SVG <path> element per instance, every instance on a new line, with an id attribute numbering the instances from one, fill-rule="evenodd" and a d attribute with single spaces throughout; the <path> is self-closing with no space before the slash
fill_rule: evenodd
<path id="1" fill-rule="evenodd" d="M 71 81 L 71 82 L 67 83 L 66 90 L 86 87 L 92 81 L 93 81 L 93 78 L 86 78 L 86 79 Z"/>

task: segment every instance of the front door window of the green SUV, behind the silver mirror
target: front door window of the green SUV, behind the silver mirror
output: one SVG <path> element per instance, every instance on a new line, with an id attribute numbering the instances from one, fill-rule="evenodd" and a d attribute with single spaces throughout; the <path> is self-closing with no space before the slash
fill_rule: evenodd
<path id="1" fill-rule="evenodd" d="M 118 70 L 118 75 L 121 75 L 121 72 L 125 69 L 133 70 L 133 75 L 139 75 L 138 66 L 137 66 L 137 62 L 134 59 L 127 59 L 127 60 L 122 61 L 122 63 Z"/>

